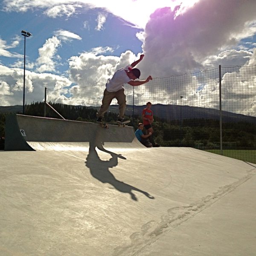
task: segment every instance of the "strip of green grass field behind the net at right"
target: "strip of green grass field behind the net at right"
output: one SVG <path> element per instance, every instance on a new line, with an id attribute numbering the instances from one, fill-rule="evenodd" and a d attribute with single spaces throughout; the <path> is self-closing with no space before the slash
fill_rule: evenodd
<path id="1" fill-rule="evenodd" d="M 221 154 L 219 149 L 205 150 L 214 154 Z M 223 155 L 225 157 L 232 157 L 249 163 L 256 163 L 256 150 L 236 150 L 236 149 L 224 149 Z"/>

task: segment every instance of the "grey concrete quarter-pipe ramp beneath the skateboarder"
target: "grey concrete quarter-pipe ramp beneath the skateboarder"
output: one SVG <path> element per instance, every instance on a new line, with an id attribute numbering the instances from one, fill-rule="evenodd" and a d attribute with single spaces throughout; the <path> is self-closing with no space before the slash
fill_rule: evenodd
<path id="1" fill-rule="evenodd" d="M 108 148 L 143 148 L 133 127 L 109 125 L 108 129 L 91 122 L 36 116 L 6 117 L 5 150 L 85 151 L 90 144 Z"/>

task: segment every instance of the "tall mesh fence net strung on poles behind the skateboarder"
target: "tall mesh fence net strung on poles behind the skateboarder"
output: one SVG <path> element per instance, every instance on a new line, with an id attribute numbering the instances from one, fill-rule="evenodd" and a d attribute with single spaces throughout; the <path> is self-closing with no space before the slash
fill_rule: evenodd
<path id="1" fill-rule="evenodd" d="M 124 87 L 125 113 L 135 129 L 142 121 L 146 102 L 152 103 L 154 137 L 160 145 L 189 146 L 219 154 L 221 114 L 222 141 L 226 143 L 223 154 L 256 162 L 256 65 L 216 67 Z M 92 121 L 104 90 L 105 84 L 47 89 L 47 102 L 56 105 L 67 119 Z M 73 106 L 73 111 L 67 113 L 67 105 Z M 111 113 L 118 113 L 116 99 L 105 114 L 106 121 L 116 117 Z"/>

